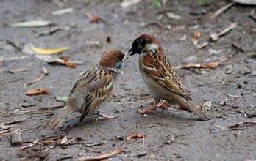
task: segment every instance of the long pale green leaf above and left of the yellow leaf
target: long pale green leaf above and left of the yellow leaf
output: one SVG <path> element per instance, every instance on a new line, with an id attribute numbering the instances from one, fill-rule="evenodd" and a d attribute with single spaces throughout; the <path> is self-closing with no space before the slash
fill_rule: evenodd
<path id="1" fill-rule="evenodd" d="M 43 26 L 50 26 L 53 23 L 49 21 L 40 21 L 40 20 L 31 20 L 31 21 L 25 21 L 22 23 L 12 23 L 8 26 L 11 27 L 43 27 Z"/>

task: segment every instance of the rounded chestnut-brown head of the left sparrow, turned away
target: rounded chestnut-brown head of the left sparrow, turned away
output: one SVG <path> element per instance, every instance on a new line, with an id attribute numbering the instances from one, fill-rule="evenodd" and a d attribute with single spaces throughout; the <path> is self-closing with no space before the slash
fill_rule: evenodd
<path id="1" fill-rule="evenodd" d="M 99 65 L 102 67 L 110 67 L 113 69 L 121 68 L 122 60 L 124 59 L 124 53 L 121 50 L 109 50 L 102 54 L 102 59 L 99 61 Z"/>

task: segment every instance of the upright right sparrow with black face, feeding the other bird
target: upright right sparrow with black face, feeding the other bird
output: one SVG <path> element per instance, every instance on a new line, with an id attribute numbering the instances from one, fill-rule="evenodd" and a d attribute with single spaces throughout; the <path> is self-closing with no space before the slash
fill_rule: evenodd
<path id="1" fill-rule="evenodd" d="M 152 109 L 166 109 L 166 102 L 178 104 L 181 108 L 196 113 L 200 119 L 206 121 L 210 117 L 203 113 L 199 108 L 189 102 L 190 97 L 185 93 L 181 81 L 176 75 L 173 67 L 166 59 L 160 41 L 151 34 L 142 34 L 132 42 L 132 48 L 127 56 L 139 54 L 139 69 L 143 81 L 146 83 L 149 92 L 154 97 L 154 104 L 144 111 L 138 109 L 139 113 L 152 113 Z M 159 104 L 161 100 L 165 100 Z"/>

